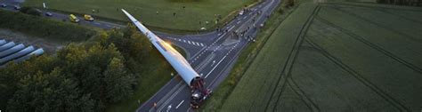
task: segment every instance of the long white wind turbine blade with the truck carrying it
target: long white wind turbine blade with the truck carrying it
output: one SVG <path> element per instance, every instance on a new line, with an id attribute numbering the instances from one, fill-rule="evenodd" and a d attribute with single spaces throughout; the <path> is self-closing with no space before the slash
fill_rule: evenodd
<path id="1" fill-rule="evenodd" d="M 130 13 L 126 12 L 124 9 L 122 9 L 122 12 L 126 14 L 127 18 L 134 23 L 136 28 L 138 28 L 143 35 L 148 37 L 150 43 L 164 56 L 168 63 L 177 71 L 179 76 L 183 78 L 183 81 L 191 87 L 191 108 L 199 108 L 212 92 L 206 88 L 204 78 L 199 76 L 191 67 L 191 64 L 183 58 L 182 54 L 177 52 L 170 44 L 167 44 L 151 32 L 150 29 L 143 26 L 142 23 L 136 20 Z"/>

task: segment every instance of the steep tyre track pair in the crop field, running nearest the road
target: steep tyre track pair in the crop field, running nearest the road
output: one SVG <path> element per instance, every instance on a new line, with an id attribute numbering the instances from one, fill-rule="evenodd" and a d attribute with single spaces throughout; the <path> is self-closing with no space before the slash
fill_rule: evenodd
<path id="1" fill-rule="evenodd" d="M 309 29 L 309 26 L 311 26 L 313 18 L 316 16 L 316 14 L 318 12 L 320 12 L 320 10 L 321 10 L 321 6 L 319 4 L 317 4 L 317 6 L 313 9 L 312 14 L 309 16 L 308 20 L 306 20 L 306 22 L 304 23 L 304 26 L 301 28 L 301 30 L 299 32 L 299 35 L 297 35 L 295 44 L 293 45 L 293 48 L 291 49 L 291 51 L 288 53 L 288 59 L 286 60 L 286 63 L 284 63 L 284 67 L 281 70 L 280 76 L 279 76 L 279 78 L 277 80 L 277 83 L 275 84 L 274 89 L 272 90 L 272 93 L 270 95 L 270 98 L 272 98 L 274 96 L 274 92 L 276 92 L 277 86 L 280 84 L 281 77 L 283 75 L 286 75 L 285 74 L 286 69 L 291 70 L 291 68 L 295 64 L 295 60 L 297 58 L 297 54 L 299 52 L 299 48 L 302 45 L 302 43 L 304 42 L 304 35 L 306 34 L 307 30 Z M 286 83 L 286 81 L 285 81 L 285 83 Z M 285 85 L 283 84 L 283 86 L 285 86 Z M 280 92 L 280 94 L 282 94 L 282 92 Z M 280 96 L 281 95 L 278 95 L 277 96 L 277 100 L 276 100 L 276 102 L 274 104 L 278 104 L 279 103 Z M 272 99 L 270 99 L 270 100 L 267 101 L 266 107 L 265 107 L 265 111 L 268 110 L 268 108 L 270 106 L 270 103 L 271 103 L 271 100 Z M 308 105 L 308 104 L 306 104 L 306 105 Z M 275 110 L 276 107 L 277 107 L 277 105 L 274 105 L 274 107 L 272 107 L 272 110 Z"/>

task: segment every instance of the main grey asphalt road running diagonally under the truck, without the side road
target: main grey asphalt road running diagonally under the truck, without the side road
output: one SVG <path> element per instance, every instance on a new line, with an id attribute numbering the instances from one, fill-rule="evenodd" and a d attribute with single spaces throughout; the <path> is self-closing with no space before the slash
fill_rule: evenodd
<path id="1" fill-rule="evenodd" d="M 185 37 L 194 42 L 207 44 L 199 52 L 191 55 L 188 61 L 199 75 L 205 78 L 206 86 L 209 89 L 215 90 L 215 87 L 229 75 L 232 65 L 239 56 L 239 52 L 250 43 L 251 39 L 248 36 L 256 37 L 259 28 L 254 28 L 254 24 L 255 26 L 259 26 L 264 23 L 267 19 L 266 16 L 270 15 L 279 3 L 280 0 L 267 0 L 262 4 L 256 5 L 251 8 L 250 12 L 245 12 L 225 26 L 223 29 L 227 29 L 227 33 L 213 32 L 206 35 L 209 38 L 204 38 L 204 36 Z M 263 12 L 256 14 L 259 11 Z M 256 20 L 254 21 L 254 19 Z M 248 31 L 246 31 L 245 36 L 233 36 L 231 33 L 232 31 L 242 32 L 247 29 Z M 161 37 L 168 38 L 166 36 Z M 185 43 L 178 40 L 178 37 L 172 38 L 176 40 L 171 41 L 175 44 Z M 184 84 L 181 77 L 175 76 L 136 111 L 193 111 L 190 108 L 190 91 L 190 88 L 187 84 Z M 154 102 L 158 104 L 155 108 L 153 107 Z"/>

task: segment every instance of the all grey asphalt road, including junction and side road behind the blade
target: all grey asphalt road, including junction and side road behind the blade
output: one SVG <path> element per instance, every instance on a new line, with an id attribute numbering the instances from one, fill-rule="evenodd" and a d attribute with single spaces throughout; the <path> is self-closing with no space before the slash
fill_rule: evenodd
<path id="1" fill-rule="evenodd" d="M 19 5 L 21 0 L 4 0 L 0 4 L 8 4 L 7 9 L 13 12 L 12 5 Z M 280 3 L 280 0 L 265 0 L 250 8 L 249 12 L 244 12 L 236 19 L 231 20 L 223 31 L 213 31 L 200 35 L 171 35 L 161 32 L 154 32 L 168 43 L 181 47 L 187 52 L 187 60 L 191 66 L 205 78 L 206 86 L 215 90 L 221 82 L 229 75 L 229 72 L 236 62 L 241 50 L 251 43 L 259 31 L 260 24 L 263 24 L 267 16 Z M 48 12 L 44 10 L 44 13 Z M 261 12 L 258 14 L 257 12 Z M 56 20 L 66 20 L 69 22 L 68 14 L 52 12 L 53 17 L 46 17 Z M 45 16 L 45 15 L 44 15 Z M 85 21 L 79 17 L 81 25 L 88 25 L 97 28 L 122 28 L 125 26 L 104 22 Z M 135 17 L 136 18 L 136 17 Z M 75 23 L 76 24 L 76 23 Z M 255 26 L 255 27 L 254 27 Z M 234 36 L 232 32 L 245 32 L 244 36 Z M 144 111 L 193 111 L 190 108 L 190 88 L 183 82 L 180 76 L 174 76 L 165 86 L 163 86 L 154 96 L 142 103 L 136 110 Z M 158 107 L 154 108 L 153 104 Z"/>

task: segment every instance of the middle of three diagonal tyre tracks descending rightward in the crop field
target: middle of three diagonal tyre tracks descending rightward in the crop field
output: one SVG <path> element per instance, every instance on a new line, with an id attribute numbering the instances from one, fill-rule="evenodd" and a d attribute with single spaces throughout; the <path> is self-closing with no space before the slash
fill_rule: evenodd
<path id="1" fill-rule="evenodd" d="M 371 42 L 369 42 L 368 40 L 366 40 L 365 38 L 358 36 L 356 34 L 354 34 L 352 31 L 347 30 L 345 28 L 341 28 L 337 25 L 335 25 L 334 23 L 329 22 L 329 20 L 324 20 L 320 17 L 317 17 L 316 20 L 320 20 L 322 23 L 325 23 L 327 25 L 329 25 L 332 28 L 337 28 L 337 30 L 345 33 L 348 36 L 353 37 L 353 39 L 360 41 L 363 44 L 368 45 L 369 47 L 377 50 L 378 52 L 382 52 L 383 54 L 385 54 L 385 56 L 390 57 L 393 60 L 398 61 L 399 63 L 401 63 L 402 65 L 406 66 L 407 68 L 410 68 L 416 72 L 418 72 L 419 74 L 422 74 L 422 69 L 418 68 L 418 66 L 411 64 L 410 62 L 406 61 L 406 60 L 402 60 L 401 58 L 397 57 L 396 55 L 394 55 L 392 52 L 388 52 L 385 49 L 383 49 L 382 47 L 378 46 L 377 44 L 373 44 Z"/>

